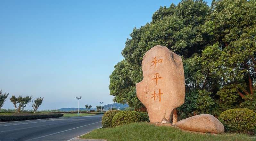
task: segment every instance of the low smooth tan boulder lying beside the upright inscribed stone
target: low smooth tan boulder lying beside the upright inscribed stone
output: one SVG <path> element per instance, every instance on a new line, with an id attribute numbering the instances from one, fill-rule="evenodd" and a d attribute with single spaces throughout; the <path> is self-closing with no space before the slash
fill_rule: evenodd
<path id="1" fill-rule="evenodd" d="M 202 114 L 191 116 L 189 118 L 178 121 L 175 126 L 190 131 L 204 133 L 223 133 L 223 124 L 214 116 Z"/>

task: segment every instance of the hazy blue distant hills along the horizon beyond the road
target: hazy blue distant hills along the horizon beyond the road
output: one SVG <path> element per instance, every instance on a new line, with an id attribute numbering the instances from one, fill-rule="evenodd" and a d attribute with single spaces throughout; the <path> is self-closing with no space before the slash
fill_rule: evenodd
<path id="1" fill-rule="evenodd" d="M 126 107 L 129 107 L 128 104 L 112 103 L 112 104 L 104 105 L 103 111 L 111 109 L 111 106 L 112 106 L 112 108 L 116 108 L 116 109 L 118 109 L 118 108 L 119 109 L 124 109 Z M 58 109 L 58 110 L 69 112 L 69 111 L 77 111 L 78 108 L 61 108 L 61 109 Z M 86 110 L 86 109 L 85 108 L 79 108 L 79 110 Z M 97 110 L 97 109 L 96 108 L 91 108 L 90 110 Z"/>

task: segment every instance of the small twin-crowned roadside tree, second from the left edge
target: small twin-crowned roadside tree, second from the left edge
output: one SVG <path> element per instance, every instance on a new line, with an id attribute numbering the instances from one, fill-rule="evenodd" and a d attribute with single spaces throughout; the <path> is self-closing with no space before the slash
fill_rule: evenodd
<path id="1" fill-rule="evenodd" d="M 19 95 L 18 97 L 12 95 L 12 97 L 10 98 L 17 113 L 20 113 L 25 107 L 27 107 L 29 102 L 31 102 L 31 99 L 32 96 L 28 95 L 25 97 L 22 97 L 21 95 Z"/>

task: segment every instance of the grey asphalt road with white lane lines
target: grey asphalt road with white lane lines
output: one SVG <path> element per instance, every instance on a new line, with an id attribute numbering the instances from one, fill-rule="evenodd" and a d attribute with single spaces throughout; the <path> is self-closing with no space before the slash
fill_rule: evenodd
<path id="1" fill-rule="evenodd" d="M 0 141 L 65 141 L 102 127 L 102 115 L 0 123 Z"/>

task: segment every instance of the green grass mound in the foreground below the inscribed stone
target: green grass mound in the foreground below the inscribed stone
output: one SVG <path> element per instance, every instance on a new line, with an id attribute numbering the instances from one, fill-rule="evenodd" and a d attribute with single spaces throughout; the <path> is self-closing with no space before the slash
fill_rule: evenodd
<path id="1" fill-rule="evenodd" d="M 132 123 L 115 128 L 101 128 L 85 134 L 81 138 L 107 139 L 108 141 L 256 141 L 255 136 L 245 134 L 192 133 L 175 127 L 155 126 L 149 123 Z"/>

